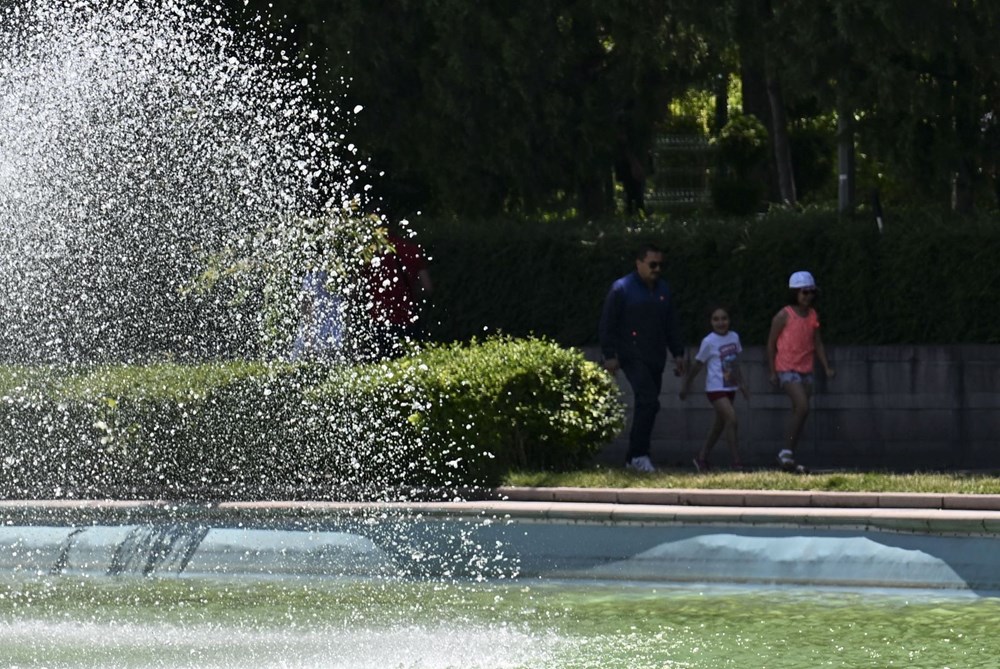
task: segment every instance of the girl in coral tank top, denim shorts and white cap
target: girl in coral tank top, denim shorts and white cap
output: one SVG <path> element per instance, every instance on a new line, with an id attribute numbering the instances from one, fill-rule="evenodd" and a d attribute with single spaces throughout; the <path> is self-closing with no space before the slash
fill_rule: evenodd
<path id="1" fill-rule="evenodd" d="M 778 453 L 778 464 L 786 471 L 803 473 L 795 461 L 802 428 L 809 416 L 809 398 L 813 392 L 813 365 L 819 358 L 828 378 L 836 371 L 830 367 L 819 334 L 819 316 L 813 308 L 818 289 L 809 272 L 795 272 L 788 279 L 789 304 L 771 320 L 767 338 L 767 359 L 771 383 L 784 389 L 792 402 L 792 416 L 785 432 L 785 443 Z"/>

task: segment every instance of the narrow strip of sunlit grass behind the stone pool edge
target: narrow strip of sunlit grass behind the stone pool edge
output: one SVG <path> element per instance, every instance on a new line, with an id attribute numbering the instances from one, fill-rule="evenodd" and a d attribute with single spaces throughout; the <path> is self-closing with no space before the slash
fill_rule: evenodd
<path id="1" fill-rule="evenodd" d="M 776 470 L 719 471 L 697 474 L 661 470 L 639 474 L 598 467 L 572 472 L 512 472 L 504 485 L 578 488 L 705 488 L 728 490 L 821 490 L 834 492 L 929 492 L 1000 494 L 1000 475 L 978 472 L 818 472 L 787 474 Z"/>

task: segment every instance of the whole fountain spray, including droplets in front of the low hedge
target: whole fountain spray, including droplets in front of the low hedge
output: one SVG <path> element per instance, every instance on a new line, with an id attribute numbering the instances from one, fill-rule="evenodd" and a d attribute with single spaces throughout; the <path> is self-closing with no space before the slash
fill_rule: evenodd
<path id="1" fill-rule="evenodd" d="M 301 256 L 295 222 L 351 219 L 364 204 L 365 164 L 344 134 L 357 109 L 321 102 L 316 66 L 290 56 L 263 18 L 249 18 L 239 31 L 230 18 L 195 0 L 0 5 L 4 362 L 64 370 L 273 353 L 261 347 L 267 324 L 259 283 L 208 293 L 183 288 L 207 258 Z M 336 235 L 325 239 L 340 243 Z M 286 288 L 295 282 L 287 292 L 300 279 L 286 281 Z M 249 303 L 234 305 L 244 290 Z M 41 375 L 55 378 L 58 369 Z M 101 374 L 93 376 L 97 387 Z M 287 376 L 299 384 L 289 395 L 311 382 Z M 327 491 L 318 496 L 351 489 L 382 499 L 395 498 L 402 479 L 426 468 L 418 453 L 424 445 L 403 443 L 398 429 L 420 408 L 419 397 L 405 406 L 387 400 L 363 415 L 308 400 L 293 416 L 274 399 L 288 390 L 277 382 L 251 383 L 234 391 L 245 391 L 241 404 L 223 407 L 214 399 L 198 404 L 204 389 L 167 391 L 165 381 L 165 395 L 184 399 L 154 412 L 176 409 L 163 424 L 146 424 L 150 414 L 129 413 L 135 407 L 120 403 L 116 390 L 57 399 L 51 410 L 37 408 L 19 383 L 0 399 L 12 412 L 8 428 L 33 448 L 0 452 L 13 491 L 6 494 L 114 496 L 125 494 L 125 482 L 136 486 L 128 494 L 169 495 L 194 482 L 260 498 L 308 481 Z M 206 414 L 212 417 L 198 422 Z M 290 449 L 295 457 L 285 457 Z"/>

